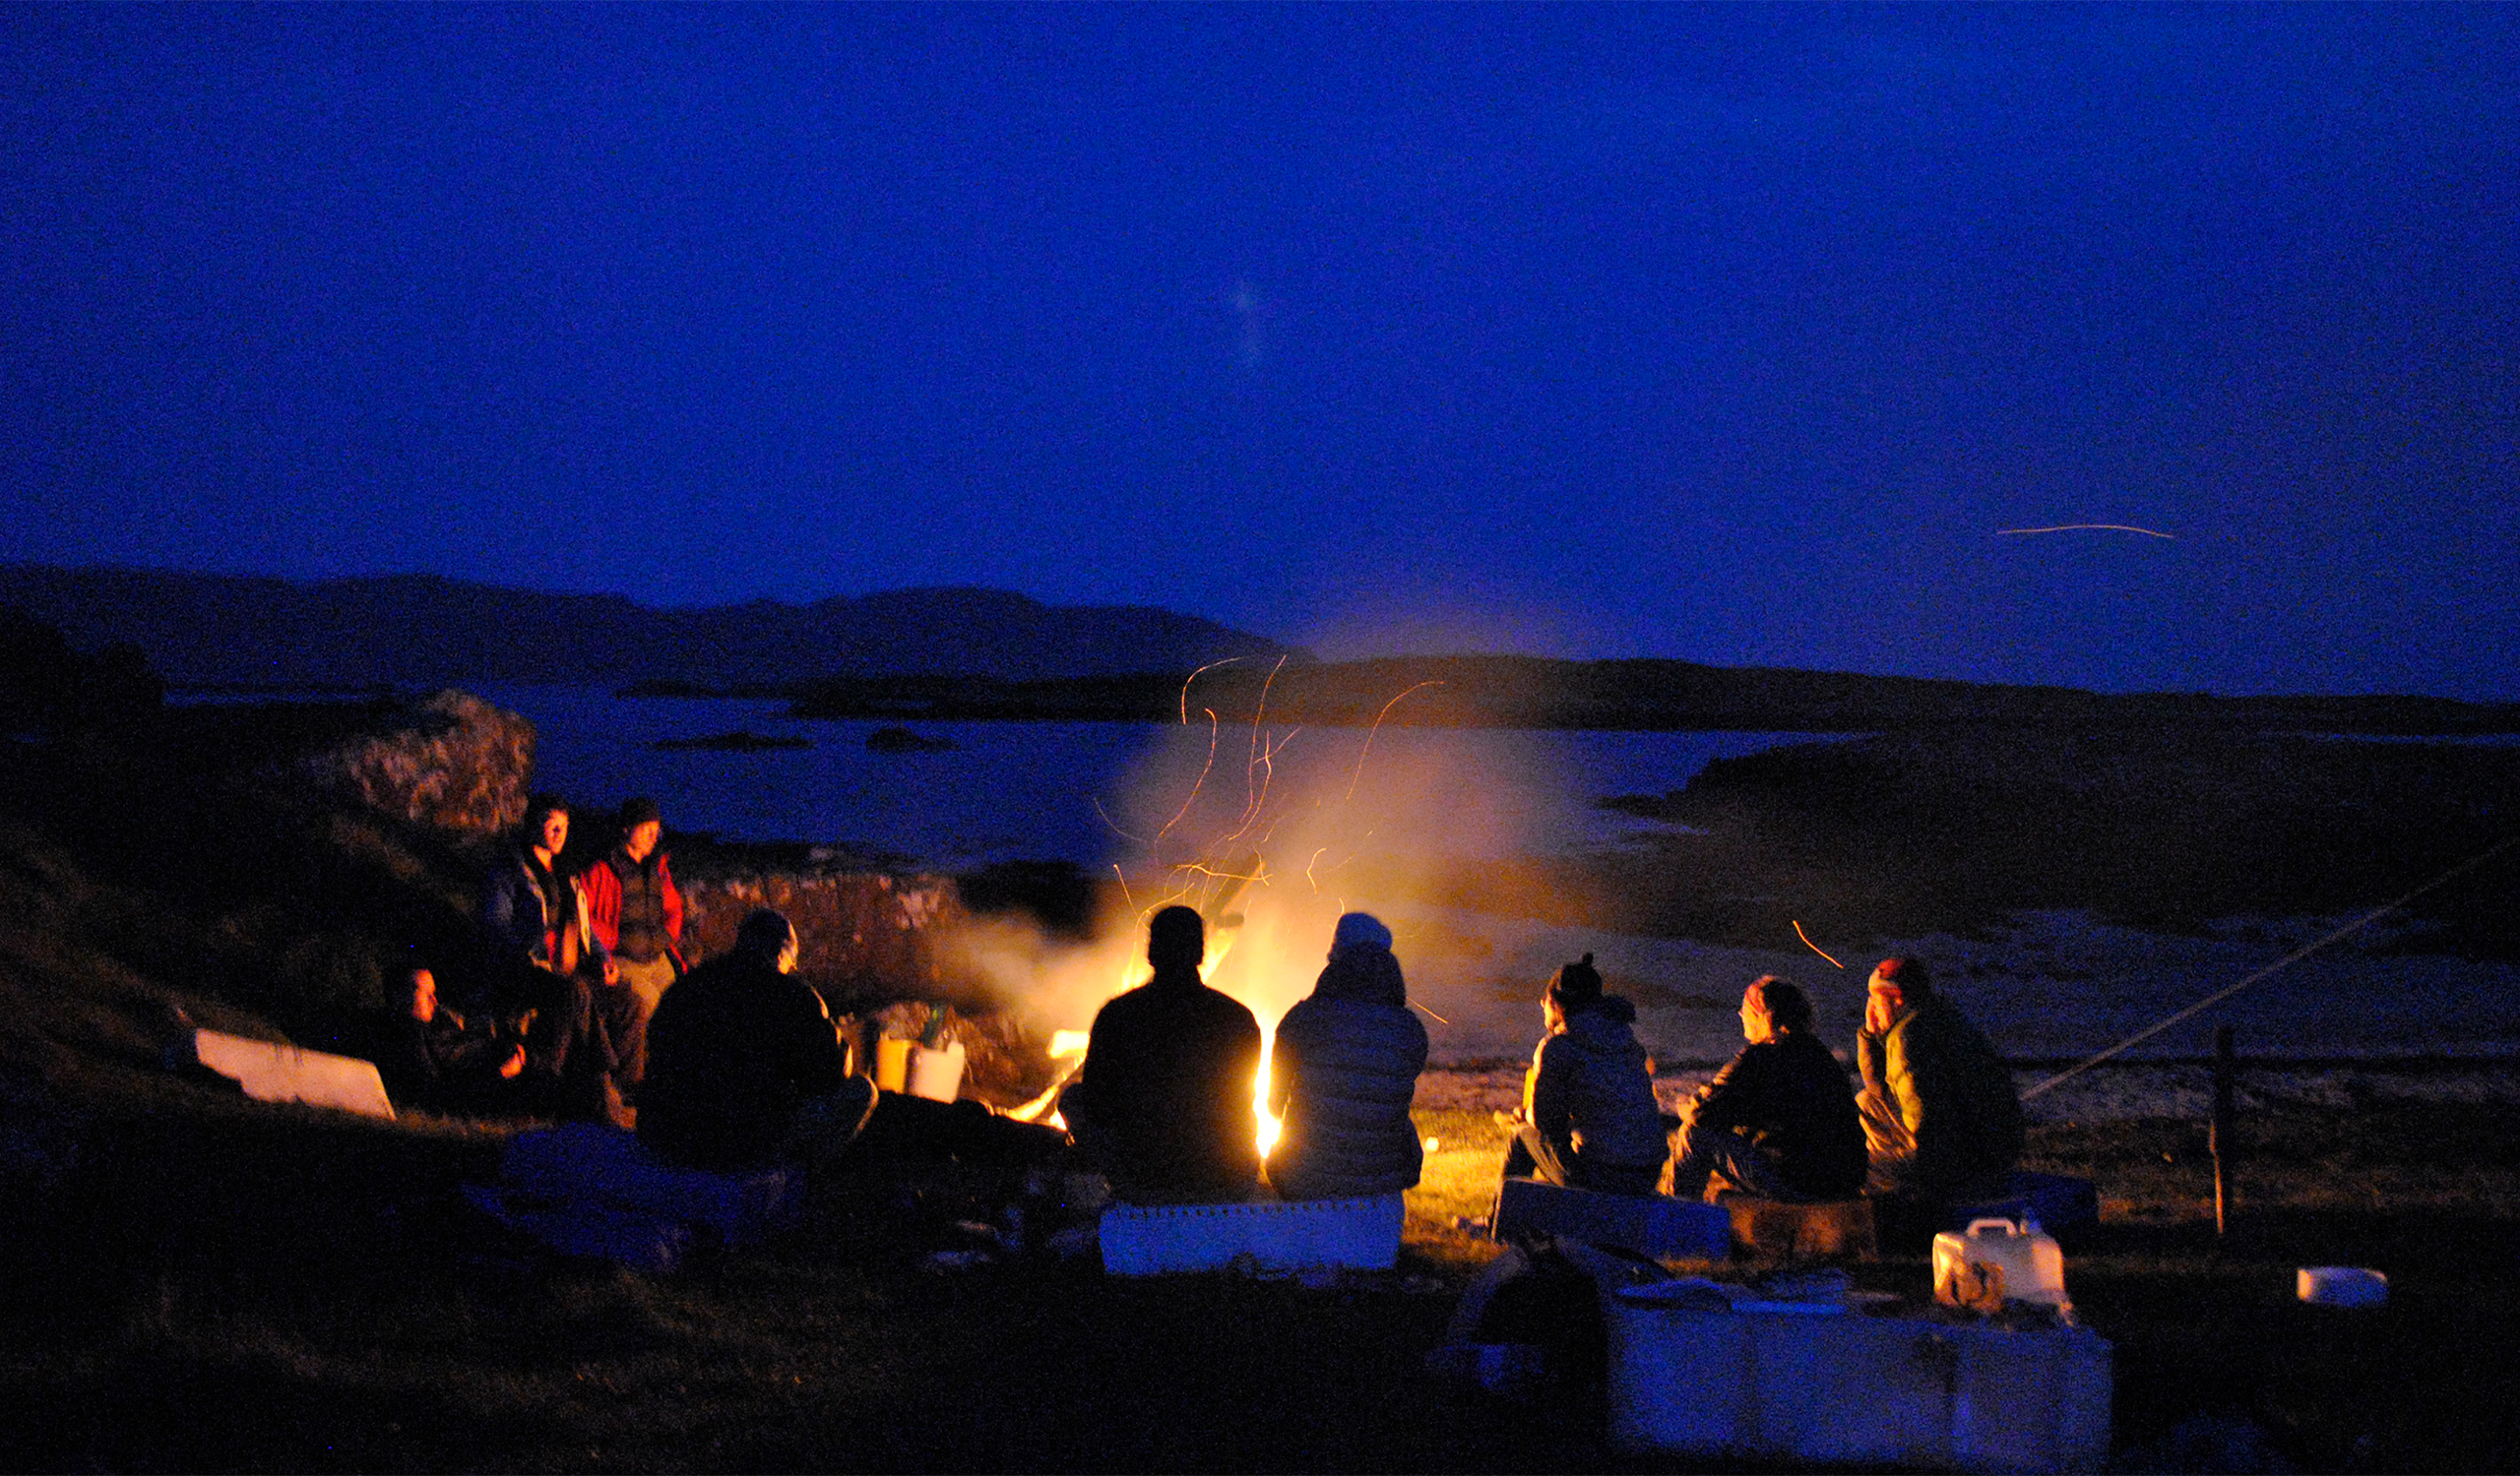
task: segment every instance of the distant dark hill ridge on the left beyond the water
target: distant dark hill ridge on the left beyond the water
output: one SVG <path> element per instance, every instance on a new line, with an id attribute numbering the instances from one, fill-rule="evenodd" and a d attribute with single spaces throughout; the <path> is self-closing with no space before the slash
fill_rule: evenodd
<path id="1" fill-rule="evenodd" d="M 1308 652 L 1139 605 L 897 589 L 814 605 L 650 610 L 436 574 L 290 582 L 169 569 L 0 567 L 0 605 L 81 650 L 129 642 L 171 685 L 690 683 L 834 675 L 1056 680 Z"/>

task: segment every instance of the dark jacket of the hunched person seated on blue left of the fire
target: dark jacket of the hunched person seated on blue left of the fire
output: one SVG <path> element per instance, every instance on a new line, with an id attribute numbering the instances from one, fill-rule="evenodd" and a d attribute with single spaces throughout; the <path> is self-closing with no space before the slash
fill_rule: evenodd
<path id="1" fill-rule="evenodd" d="M 741 952 L 665 990 L 648 1023 L 638 1136 L 693 1169 L 751 1169 L 776 1156 L 796 1108 L 849 1081 L 822 995 Z"/>

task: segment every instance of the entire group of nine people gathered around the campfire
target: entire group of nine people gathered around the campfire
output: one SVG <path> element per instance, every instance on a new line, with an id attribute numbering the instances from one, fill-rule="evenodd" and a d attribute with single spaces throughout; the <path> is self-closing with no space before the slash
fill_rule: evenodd
<path id="1" fill-rule="evenodd" d="M 391 1096 L 433 1111 L 635 1121 L 660 1156 L 690 1166 L 811 1159 L 862 1138 L 879 1093 L 852 1073 L 829 1008 L 794 975 L 789 919 L 756 912 L 733 952 L 685 977 L 683 897 L 655 801 L 627 801 L 617 829 L 602 861 L 567 877 L 570 806 L 529 801 L 481 889 L 481 957 L 464 1008 L 438 1000 L 423 960 L 363 1033 Z M 1391 929 L 1363 912 L 1341 917 L 1313 992 L 1278 1023 L 1265 1106 L 1280 1136 L 1265 1159 L 1260 1023 L 1202 982 L 1205 945 L 1189 907 L 1149 919 L 1154 975 L 1101 1008 L 1058 1098 L 1079 1159 L 1121 1199 L 1149 1204 L 1414 1186 L 1409 1106 L 1426 1028 L 1409 1010 Z M 1774 975 L 1741 995 L 1741 1053 L 1676 1118 L 1656 1101 L 1635 1008 L 1603 990 L 1593 955 L 1550 977 L 1542 1020 L 1507 1176 L 1653 1194 L 1668 1174 L 1683 1199 L 1963 1199 L 2001 1184 L 2021 1156 L 2003 1060 L 1915 960 L 1882 960 L 1867 980 L 1860 1093 L 1819 1038 L 1809 997 Z M 1038 1161 L 1051 1133 L 932 1108 L 942 1103 L 890 1103 L 872 1138 L 887 1151 L 950 1144 Z M 1021 1144 L 998 1141 L 1018 1128 Z"/>

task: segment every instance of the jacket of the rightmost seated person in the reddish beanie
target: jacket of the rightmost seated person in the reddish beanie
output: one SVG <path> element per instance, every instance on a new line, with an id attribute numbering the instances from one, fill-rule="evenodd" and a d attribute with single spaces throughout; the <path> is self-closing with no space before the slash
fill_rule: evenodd
<path id="1" fill-rule="evenodd" d="M 1908 995 L 1882 1035 L 1857 1035 L 1865 1088 L 1915 1136 L 1900 1169 L 1930 1196 L 1976 1191 L 2021 1161 L 2021 1098 L 1996 1048 L 1940 995 Z"/>

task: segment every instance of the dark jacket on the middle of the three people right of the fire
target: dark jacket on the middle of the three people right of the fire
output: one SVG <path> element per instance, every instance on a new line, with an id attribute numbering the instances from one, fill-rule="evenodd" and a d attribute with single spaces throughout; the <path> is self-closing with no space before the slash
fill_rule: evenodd
<path id="1" fill-rule="evenodd" d="M 1691 1121 L 1736 1128 L 1804 1199 L 1855 1199 L 1865 1186 L 1865 1123 L 1847 1068 L 1809 1030 L 1784 1030 L 1724 1063 L 1698 1088 Z"/>

